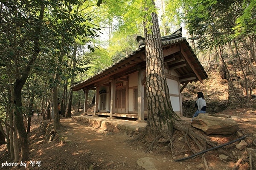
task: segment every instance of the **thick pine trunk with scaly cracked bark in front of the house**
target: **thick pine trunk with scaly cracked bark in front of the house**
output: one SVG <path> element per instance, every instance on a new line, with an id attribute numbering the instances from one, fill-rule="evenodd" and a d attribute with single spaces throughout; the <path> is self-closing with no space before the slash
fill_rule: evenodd
<path id="1" fill-rule="evenodd" d="M 154 4 L 154 0 L 151 1 Z M 145 7 L 148 11 L 148 7 Z M 158 136 L 172 136 L 173 121 L 176 113 L 172 109 L 169 89 L 166 83 L 163 59 L 163 46 L 157 14 L 151 13 L 151 20 L 143 22 L 146 52 L 146 93 L 148 99 L 147 135 L 154 139 Z M 176 115 L 177 116 L 177 115 Z"/>

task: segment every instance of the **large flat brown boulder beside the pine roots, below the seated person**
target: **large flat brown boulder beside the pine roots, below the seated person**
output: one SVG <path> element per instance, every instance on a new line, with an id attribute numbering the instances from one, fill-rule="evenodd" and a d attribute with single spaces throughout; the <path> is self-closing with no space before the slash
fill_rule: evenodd
<path id="1" fill-rule="evenodd" d="M 229 135 L 238 130 L 238 124 L 233 119 L 209 116 L 203 113 L 195 117 L 191 125 L 203 130 L 207 135 Z"/>

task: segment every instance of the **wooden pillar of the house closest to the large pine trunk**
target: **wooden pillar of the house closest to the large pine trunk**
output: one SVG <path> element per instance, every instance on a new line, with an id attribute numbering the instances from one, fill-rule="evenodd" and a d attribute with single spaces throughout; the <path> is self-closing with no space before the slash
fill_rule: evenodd
<path id="1" fill-rule="evenodd" d="M 142 84 L 143 71 L 138 69 L 138 120 L 144 120 L 144 86 Z"/>

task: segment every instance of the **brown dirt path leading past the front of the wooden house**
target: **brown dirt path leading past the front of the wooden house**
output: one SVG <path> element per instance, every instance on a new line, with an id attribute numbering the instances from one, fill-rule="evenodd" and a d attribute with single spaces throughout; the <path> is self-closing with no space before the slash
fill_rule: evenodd
<path id="1" fill-rule="evenodd" d="M 61 124 L 67 129 L 62 133 L 63 136 L 70 140 L 70 152 L 75 147 L 76 152 L 73 154 L 87 155 L 90 161 L 94 162 L 95 167 L 110 170 L 143 170 L 138 167 L 136 161 L 143 157 L 151 157 L 155 167 L 158 170 L 185 169 L 185 165 L 173 162 L 169 157 L 160 156 L 159 154 L 145 154 L 143 148 L 130 146 L 127 143 L 128 136 L 120 133 L 102 132 L 93 127 L 87 127 L 73 122 L 71 119 L 61 119 Z M 77 165 L 83 166 L 83 160 L 78 159 Z"/>

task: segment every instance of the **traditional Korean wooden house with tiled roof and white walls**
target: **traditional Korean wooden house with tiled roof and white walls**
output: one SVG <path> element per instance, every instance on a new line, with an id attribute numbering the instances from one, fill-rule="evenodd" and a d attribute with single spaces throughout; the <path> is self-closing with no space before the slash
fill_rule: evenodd
<path id="1" fill-rule="evenodd" d="M 72 86 L 73 91 L 85 94 L 84 113 L 87 112 L 89 90 L 96 91 L 94 115 L 137 118 L 147 117 L 145 89 L 145 45 L 138 37 L 139 48 L 98 74 Z M 207 79 L 198 58 L 181 29 L 162 37 L 166 80 L 173 110 L 182 116 L 181 92 L 189 82 Z"/>

